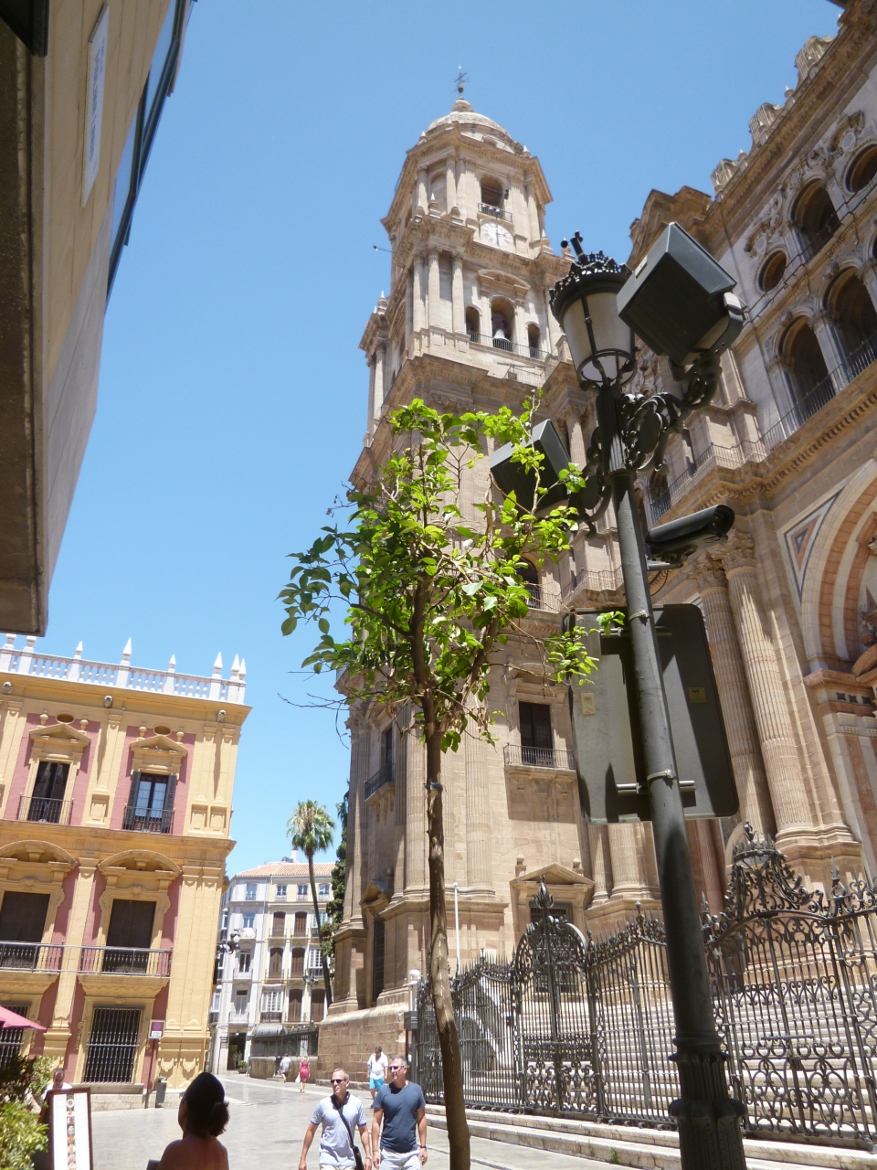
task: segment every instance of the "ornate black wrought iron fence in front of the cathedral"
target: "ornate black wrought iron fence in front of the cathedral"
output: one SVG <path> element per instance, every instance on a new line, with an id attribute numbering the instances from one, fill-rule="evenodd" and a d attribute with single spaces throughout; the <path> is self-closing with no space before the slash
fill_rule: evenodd
<path id="1" fill-rule="evenodd" d="M 678 1078 L 663 924 L 638 914 L 595 940 L 552 911 L 509 963 L 451 980 L 467 1103 L 669 1127 Z M 877 1140 L 877 882 L 805 889 L 747 826 L 724 913 L 704 944 L 744 1128 L 871 1148 Z M 417 990 L 417 1074 L 442 1099 L 428 982 Z"/>

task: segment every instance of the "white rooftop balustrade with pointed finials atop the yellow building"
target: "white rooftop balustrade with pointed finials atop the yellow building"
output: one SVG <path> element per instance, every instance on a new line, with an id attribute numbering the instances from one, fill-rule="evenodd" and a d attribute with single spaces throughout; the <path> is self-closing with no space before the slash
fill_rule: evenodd
<path id="1" fill-rule="evenodd" d="M 67 682 L 85 682 L 98 687 L 116 687 L 125 690 L 147 690 L 153 694 L 182 695 L 187 698 L 208 698 L 223 703 L 242 703 L 246 693 L 247 667 L 243 659 L 235 655 L 229 679 L 222 677 L 222 655 L 216 655 L 209 677 L 177 673 L 177 658 L 171 656 L 166 670 L 145 670 L 131 666 L 131 639 L 122 652 L 122 661 L 92 662 L 84 659 L 82 642 L 71 658 L 41 654 L 36 651 L 36 638 L 28 635 L 21 649 L 15 647 L 15 634 L 7 634 L 0 646 L 0 674 L 20 674 L 39 679 L 63 679 Z"/>

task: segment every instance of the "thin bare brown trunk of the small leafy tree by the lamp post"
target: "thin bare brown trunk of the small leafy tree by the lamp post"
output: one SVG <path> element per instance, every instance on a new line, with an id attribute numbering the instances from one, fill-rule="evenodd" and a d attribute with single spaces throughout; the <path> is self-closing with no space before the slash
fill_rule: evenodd
<path id="1" fill-rule="evenodd" d="M 448 1121 L 450 1170 L 469 1170 L 469 1126 L 463 1102 L 463 1060 L 454 1019 L 448 966 L 448 911 L 444 903 L 444 824 L 442 819 L 441 735 L 427 738 L 427 832 L 429 834 L 429 978 L 435 1026 L 442 1054 L 444 1115 Z"/>

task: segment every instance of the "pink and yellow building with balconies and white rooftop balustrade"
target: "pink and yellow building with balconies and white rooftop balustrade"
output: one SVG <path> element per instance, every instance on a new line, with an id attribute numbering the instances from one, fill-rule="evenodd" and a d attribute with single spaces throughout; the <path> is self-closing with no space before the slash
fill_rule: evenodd
<path id="1" fill-rule="evenodd" d="M 246 670 L 130 659 L 0 646 L 0 1003 L 47 1028 L 0 1047 L 174 1087 L 209 1039 Z"/>

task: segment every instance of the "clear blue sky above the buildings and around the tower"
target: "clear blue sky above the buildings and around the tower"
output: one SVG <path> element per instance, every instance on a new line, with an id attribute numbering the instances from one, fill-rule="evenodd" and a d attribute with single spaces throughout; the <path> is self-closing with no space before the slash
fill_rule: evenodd
<path id="1" fill-rule="evenodd" d="M 247 659 L 229 872 L 279 858 L 294 804 L 347 778 L 301 702 L 311 646 L 275 597 L 365 431 L 362 326 L 387 287 L 380 216 L 456 94 L 541 160 L 552 242 L 627 256 L 652 187 L 710 188 L 795 82 L 828 0 L 200 0 L 106 315 L 97 420 L 46 649 L 226 674 Z"/>

